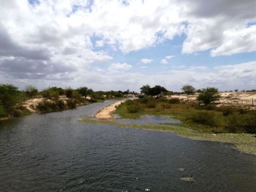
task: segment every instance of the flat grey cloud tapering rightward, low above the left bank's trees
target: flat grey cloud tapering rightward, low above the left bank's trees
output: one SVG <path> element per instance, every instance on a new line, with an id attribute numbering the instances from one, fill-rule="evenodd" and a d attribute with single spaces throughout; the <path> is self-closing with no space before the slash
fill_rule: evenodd
<path id="1" fill-rule="evenodd" d="M 76 69 L 70 66 L 63 66 L 59 63 L 43 62 L 39 60 L 25 60 L 15 58 L 14 60 L 3 60 L 0 62 L 0 69 L 15 78 L 44 78 L 49 75 L 74 72 Z"/>

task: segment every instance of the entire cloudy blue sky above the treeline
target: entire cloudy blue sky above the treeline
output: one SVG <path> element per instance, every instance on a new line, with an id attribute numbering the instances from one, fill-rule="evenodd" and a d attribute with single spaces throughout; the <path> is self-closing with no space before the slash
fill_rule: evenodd
<path id="1" fill-rule="evenodd" d="M 0 84 L 256 89 L 255 0 L 0 0 Z"/>

